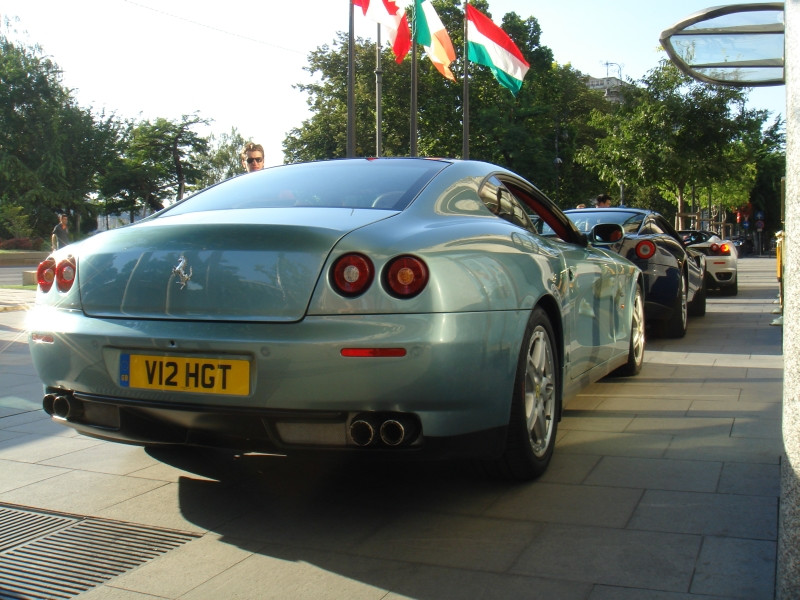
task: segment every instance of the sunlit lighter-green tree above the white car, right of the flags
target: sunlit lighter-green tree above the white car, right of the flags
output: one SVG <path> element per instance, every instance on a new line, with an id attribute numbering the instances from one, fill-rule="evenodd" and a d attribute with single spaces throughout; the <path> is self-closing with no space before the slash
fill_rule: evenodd
<path id="1" fill-rule="evenodd" d="M 605 135 L 578 152 L 579 162 L 608 183 L 656 186 L 679 214 L 692 186 L 746 185 L 766 114 L 744 108 L 745 91 L 695 82 L 666 60 L 641 84 L 623 91 L 618 110 L 593 114 Z"/>

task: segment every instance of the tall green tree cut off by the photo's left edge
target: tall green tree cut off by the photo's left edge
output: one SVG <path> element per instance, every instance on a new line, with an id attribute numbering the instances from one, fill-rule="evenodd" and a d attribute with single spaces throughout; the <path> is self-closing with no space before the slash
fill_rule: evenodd
<path id="1" fill-rule="evenodd" d="M 113 117 L 77 105 L 40 48 L 0 35 L 0 203 L 22 207 L 40 235 L 60 212 L 80 229 L 117 134 Z"/>

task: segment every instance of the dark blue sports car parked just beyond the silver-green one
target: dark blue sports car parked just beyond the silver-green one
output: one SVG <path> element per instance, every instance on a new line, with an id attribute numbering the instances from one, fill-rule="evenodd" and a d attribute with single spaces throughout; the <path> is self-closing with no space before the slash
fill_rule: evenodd
<path id="1" fill-rule="evenodd" d="M 622 235 L 603 244 L 644 273 L 645 318 L 665 337 L 686 335 L 690 315 L 706 312 L 705 257 L 687 248 L 675 228 L 659 213 L 640 208 L 588 208 L 566 211 L 578 230 L 616 224 Z M 615 230 L 611 229 L 613 233 Z"/>

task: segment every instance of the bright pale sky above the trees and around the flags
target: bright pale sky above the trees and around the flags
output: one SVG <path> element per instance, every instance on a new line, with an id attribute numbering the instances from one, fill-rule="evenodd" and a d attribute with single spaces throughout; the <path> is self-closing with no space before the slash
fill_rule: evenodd
<path id="1" fill-rule="evenodd" d="M 659 50 L 663 30 L 719 4 L 489 0 L 489 13 L 498 24 L 512 11 L 536 17 L 542 44 L 560 64 L 638 80 L 666 56 Z M 348 6 L 349 0 L 2 0 L 0 23 L 11 19 L 12 39 L 39 45 L 58 64 L 62 85 L 80 106 L 137 120 L 197 113 L 212 121 L 201 133 L 236 128 L 264 146 L 267 164 L 279 164 L 287 133 L 310 117 L 307 96 L 293 86 L 312 81 L 303 68 L 309 52 L 347 31 Z M 374 39 L 375 23 L 359 10 L 356 35 Z M 509 92 L 498 85 L 497 93 Z M 749 98 L 751 108 L 773 117 L 786 113 L 785 86 L 754 88 Z"/>

